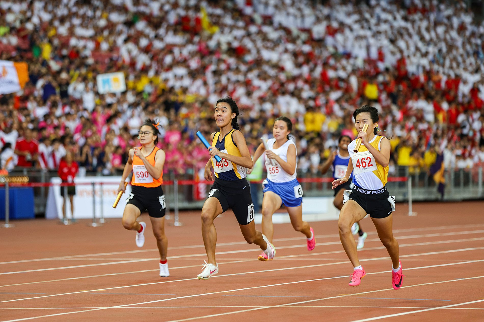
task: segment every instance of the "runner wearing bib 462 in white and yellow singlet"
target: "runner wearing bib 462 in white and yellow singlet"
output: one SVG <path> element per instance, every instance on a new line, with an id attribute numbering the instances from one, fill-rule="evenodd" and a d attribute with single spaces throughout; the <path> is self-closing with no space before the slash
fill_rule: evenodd
<path id="1" fill-rule="evenodd" d="M 344 193 L 344 205 L 339 214 L 339 238 L 341 244 L 353 264 L 353 274 L 349 286 L 358 286 L 365 276 L 356 252 L 356 244 L 351 236 L 351 225 L 362 220 L 369 214 L 378 237 L 386 247 L 392 259 L 392 284 L 398 290 L 402 285 L 402 264 L 399 261 L 398 242 L 393 237 L 393 216 L 395 199 L 388 193 L 385 184 L 388 181 L 388 163 L 390 161 L 390 141 L 377 134 L 378 110 L 370 105 L 363 105 L 353 113 L 358 137 L 362 139 L 361 146 L 356 141 L 348 145 L 351 162 L 346 175 L 333 181 L 333 189 L 348 182 L 353 172 L 353 190 Z M 368 130 L 363 132 L 363 125 L 368 124 Z M 355 153 L 353 150 L 358 150 Z"/>

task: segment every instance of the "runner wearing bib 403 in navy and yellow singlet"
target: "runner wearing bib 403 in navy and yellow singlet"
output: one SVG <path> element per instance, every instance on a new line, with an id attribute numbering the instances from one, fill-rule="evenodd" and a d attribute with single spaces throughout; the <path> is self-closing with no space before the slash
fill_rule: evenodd
<path id="1" fill-rule="evenodd" d="M 249 244 L 256 244 L 264 250 L 269 258 L 274 258 L 275 249 L 254 224 L 254 204 L 250 195 L 249 183 L 245 179 L 247 168 L 252 168 L 252 158 L 245 143 L 242 132 L 239 131 L 237 117 L 239 107 L 231 97 L 217 101 L 215 105 L 215 122 L 219 132 L 212 133 L 212 146 L 208 148 L 211 159 L 205 166 L 205 179 L 212 181 L 212 170 L 215 181 L 209 196 L 202 208 L 202 236 L 208 263 L 204 261 L 203 271 L 198 279 L 208 279 L 218 273 L 215 261 L 215 244 L 217 232 L 213 220 L 221 213 L 232 209 L 239 222 L 242 235 Z M 215 161 L 218 155 L 222 161 Z"/>

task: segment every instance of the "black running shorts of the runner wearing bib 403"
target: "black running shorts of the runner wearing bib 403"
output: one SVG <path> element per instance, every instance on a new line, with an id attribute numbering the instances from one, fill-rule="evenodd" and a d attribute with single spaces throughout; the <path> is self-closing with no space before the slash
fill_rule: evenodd
<path id="1" fill-rule="evenodd" d="M 247 225 L 254 220 L 254 204 L 249 183 L 245 178 L 231 181 L 215 178 L 208 198 L 210 197 L 218 199 L 222 212 L 232 209 L 239 224 Z"/>

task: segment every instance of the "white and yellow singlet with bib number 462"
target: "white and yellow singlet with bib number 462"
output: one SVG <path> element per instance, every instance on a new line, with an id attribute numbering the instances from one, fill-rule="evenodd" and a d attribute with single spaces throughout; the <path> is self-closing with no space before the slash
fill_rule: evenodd
<path id="1" fill-rule="evenodd" d="M 375 135 L 369 143 L 380 151 L 381 139 L 383 139 L 383 136 Z M 388 181 L 388 165 L 383 167 L 377 163 L 375 157 L 363 144 L 360 151 L 354 153 L 355 146 L 356 140 L 348 145 L 349 156 L 353 162 L 353 183 L 366 190 L 378 190 L 385 187 Z"/>

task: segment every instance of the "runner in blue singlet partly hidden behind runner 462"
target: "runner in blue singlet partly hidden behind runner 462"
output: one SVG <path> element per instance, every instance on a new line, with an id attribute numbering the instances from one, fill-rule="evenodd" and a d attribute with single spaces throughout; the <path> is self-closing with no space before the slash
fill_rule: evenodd
<path id="1" fill-rule="evenodd" d="M 348 144 L 350 142 L 351 138 L 348 135 L 340 136 L 338 140 L 338 150 L 330 154 L 328 160 L 326 160 L 321 168 L 321 174 L 324 175 L 331 167 L 333 169 L 334 179 L 341 179 L 346 175 L 349 163 Z M 333 205 L 339 210 L 343 208 L 343 192 L 345 190 L 351 190 L 351 188 L 353 187 L 353 184 L 351 182 L 352 178 L 353 174 L 350 175 L 347 182 L 337 186 L 334 189 Z M 358 244 L 356 245 L 356 248 L 362 249 L 364 247 L 364 241 L 366 240 L 368 234 L 363 232 L 363 229 L 359 222 L 355 222 L 353 226 L 351 226 L 351 233 L 354 235 L 358 234 L 360 236 L 358 238 Z"/>

